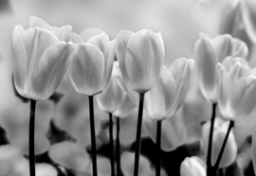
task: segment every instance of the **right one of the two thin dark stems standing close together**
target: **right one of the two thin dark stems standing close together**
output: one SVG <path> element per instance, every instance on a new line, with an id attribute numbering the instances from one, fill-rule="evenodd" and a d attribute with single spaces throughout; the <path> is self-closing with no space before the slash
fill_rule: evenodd
<path id="1" fill-rule="evenodd" d="M 117 158 L 117 170 L 118 176 L 121 176 L 121 167 L 120 167 L 120 140 L 119 140 L 119 131 L 120 131 L 120 120 L 119 117 L 117 119 L 117 141 L 116 141 L 116 158 Z"/>

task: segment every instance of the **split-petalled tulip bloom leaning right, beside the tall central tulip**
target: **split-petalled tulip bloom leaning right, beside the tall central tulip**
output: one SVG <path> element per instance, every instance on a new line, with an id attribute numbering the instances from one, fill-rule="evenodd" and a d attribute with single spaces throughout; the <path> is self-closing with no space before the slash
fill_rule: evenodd
<path id="1" fill-rule="evenodd" d="M 144 110 L 155 120 L 172 116 L 181 106 L 192 76 L 193 61 L 179 58 L 169 70 L 162 66 L 155 86 L 145 95 Z"/>

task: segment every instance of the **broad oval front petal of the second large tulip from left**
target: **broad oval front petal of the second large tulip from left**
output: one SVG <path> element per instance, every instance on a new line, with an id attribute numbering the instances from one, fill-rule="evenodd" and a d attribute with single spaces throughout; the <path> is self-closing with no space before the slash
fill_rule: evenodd
<path id="1" fill-rule="evenodd" d="M 104 56 L 93 44 L 80 44 L 75 50 L 67 76 L 80 94 L 94 96 L 102 91 Z"/>

